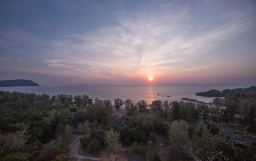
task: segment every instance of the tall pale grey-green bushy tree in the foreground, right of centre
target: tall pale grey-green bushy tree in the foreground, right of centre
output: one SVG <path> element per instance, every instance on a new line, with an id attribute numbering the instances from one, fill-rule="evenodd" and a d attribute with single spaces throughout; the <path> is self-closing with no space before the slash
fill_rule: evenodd
<path id="1" fill-rule="evenodd" d="M 188 143 L 188 125 L 187 121 L 173 121 L 169 130 L 170 137 L 170 154 L 177 160 L 184 160 L 184 153 L 181 152 L 182 147 Z"/>

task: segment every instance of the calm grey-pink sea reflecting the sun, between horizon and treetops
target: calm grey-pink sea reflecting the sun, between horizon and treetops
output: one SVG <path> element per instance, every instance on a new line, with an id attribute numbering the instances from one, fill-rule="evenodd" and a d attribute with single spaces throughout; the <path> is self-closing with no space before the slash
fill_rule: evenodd
<path id="1" fill-rule="evenodd" d="M 70 85 L 70 86 L 13 86 L 0 87 L 0 91 L 18 91 L 24 93 L 69 94 L 78 96 L 86 94 L 92 99 L 111 100 L 121 98 L 130 99 L 133 103 L 145 100 L 151 104 L 153 100 L 180 101 L 181 98 L 196 99 L 209 103 L 213 97 L 196 96 L 197 92 L 206 92 L 212 89 L 237 89 L 255 86 L 255 84 L 196 84 L 196 85 Z"/>

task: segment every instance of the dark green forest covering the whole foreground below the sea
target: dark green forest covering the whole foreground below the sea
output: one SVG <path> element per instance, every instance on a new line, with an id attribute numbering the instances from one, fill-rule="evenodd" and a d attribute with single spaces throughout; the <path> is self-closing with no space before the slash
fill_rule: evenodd
<path id="1" fill-rule="evenodd" d="M 0 91 L 0 160 L 69 160 L 77 136 L 101 160 L 256 160 L 255 106 L 254 86 L 210 104 Z M 169 138 L 165 157 L 154 152 L 158 135 Z"/>

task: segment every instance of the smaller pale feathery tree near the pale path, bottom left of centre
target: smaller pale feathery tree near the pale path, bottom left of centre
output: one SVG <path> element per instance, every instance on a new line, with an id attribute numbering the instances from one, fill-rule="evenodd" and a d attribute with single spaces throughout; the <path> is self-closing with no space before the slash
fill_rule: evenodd
<path id="1" fill-rule="evenodd" d="M 104 142 L 107 147 L 107 152 L 118 154 L 121 151 L 121 143 L 119 141 L 120 133 L 113 129 L 105 132 Z"/>

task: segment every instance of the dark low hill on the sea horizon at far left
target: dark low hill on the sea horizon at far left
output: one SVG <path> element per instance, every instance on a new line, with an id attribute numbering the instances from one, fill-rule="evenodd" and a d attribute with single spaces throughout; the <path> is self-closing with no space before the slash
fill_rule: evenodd
<path id="1" fill-rule="evenodd" d="M 25 79 L 0 81 L 0 87 L 9 87 L 9 86 L 39 86 L 39 84 L 34 83 L 32 80 L 25 80 Z"/>

